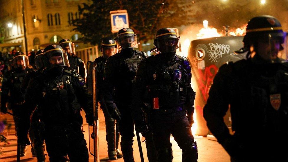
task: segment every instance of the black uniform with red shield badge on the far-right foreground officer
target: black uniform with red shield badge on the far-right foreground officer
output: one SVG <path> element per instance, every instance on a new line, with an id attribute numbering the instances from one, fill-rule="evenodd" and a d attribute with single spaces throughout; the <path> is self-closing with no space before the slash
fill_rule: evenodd
<path id="1" fill-rule="evenodd" d="M 287 63 L 255 64 L 251 59 L 220 67 L 204 118 L 231 160 L 288 160 L 287 73 Z M 279 109 L 273 108 L 275 102 Z M 229 105 L 233 136 L 223 122 Z"/>

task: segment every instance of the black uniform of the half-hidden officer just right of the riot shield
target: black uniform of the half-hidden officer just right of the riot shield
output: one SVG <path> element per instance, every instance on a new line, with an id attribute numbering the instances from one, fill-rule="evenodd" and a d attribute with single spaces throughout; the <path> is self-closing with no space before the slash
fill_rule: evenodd
<path id="1" fill-rule="evenodd" d="M 103 71 L 104 71 L 104 65 L 106 63 L 106 60 L 107 58 L 100 56 L 94 60 L 94 63 L 97 64 L 97 75 L 96 75 L 97 76 L 97 79 L 96 79 L 97 80 L 97 86 L 96 86 L 97 87 L 97 99 L 101 105 L 101 109 L 105 117 L 106 140 L 108 143 L 108 154 L 109 154 L 110 152 L 115 152 L 115 147 L 116 149 L 118 149 L 120 130 L 119 130 L 119 121 L 114 120 L 109 114 L 109 111 L 108 111 L 108 108 L 106 106 L 104 96 L 103 96 L 103 91 L 104 91 Z M 115 123 L 116 123 L 116 136 L 115 136 Z"/>

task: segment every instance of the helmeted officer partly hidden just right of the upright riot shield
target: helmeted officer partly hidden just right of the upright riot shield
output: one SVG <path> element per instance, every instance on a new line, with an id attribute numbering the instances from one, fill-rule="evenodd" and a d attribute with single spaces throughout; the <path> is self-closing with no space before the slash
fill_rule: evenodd
<path id="1" fill-rule="evenodd" d="M 122 154 L 118 149 L 120 131 L 119 131 L 119 121 L 114 120 L 109 114 L 108 108 L 104 101 L 103 96 L 103 71 L 104 65 L 108 57 L 117 53 L 117 48 L 115 48 L 116 42 L 113 38 L 105 37 L 101 42 L 101 52 L 103 56 L 100 56 L 94 60 L 97 64 L 97 98 L 101 105 L 101 109 L 105 117 L 106 125 L 106 140 L 108 144 L 108 156 L 110 160 L 117 160 L 117 158 L 122 158 Z M 116 134 L 115 134 L 115 123 L 116 123 Z M 116 148 L 116 149 L 115 149 Z"/>

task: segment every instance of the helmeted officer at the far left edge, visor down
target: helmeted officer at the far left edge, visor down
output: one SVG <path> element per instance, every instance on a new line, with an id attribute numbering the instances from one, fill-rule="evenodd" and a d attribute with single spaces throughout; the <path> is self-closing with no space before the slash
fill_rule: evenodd
<path id="1" fill-rule="evenodd" d="M 2 93 L 1 93 L 1 112 L 6 113 L 7 107 L 6 102 L 11 103 L 12 112 L 16 117 L 14 118 L 16 135 L 18 135 L 19 128 L 19 117 L 23 112 L 23 102 L 24 95 L 21 93 L 21 85 L 24 77 L 33 69 L 29 67 L 28 57 L 17 51 L 13 57 L 13 66 L 14 69 L 8 71 L 2 81 Z M 8 93 L 10 91 L 10 101 L 8 101 Z M 26 145 L 20 146 L 20 156 L 25 156 L 26 154 Z"/>

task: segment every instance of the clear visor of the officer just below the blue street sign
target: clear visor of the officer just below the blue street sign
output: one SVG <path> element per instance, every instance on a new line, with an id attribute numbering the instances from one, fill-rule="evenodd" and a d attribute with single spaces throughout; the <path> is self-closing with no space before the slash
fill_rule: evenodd
<path id="1" fill-rule="evenodd" d="M 115 39 L 118 50 L 125 48 L 138 48 L 137 35 L 121 35 Z"/>

